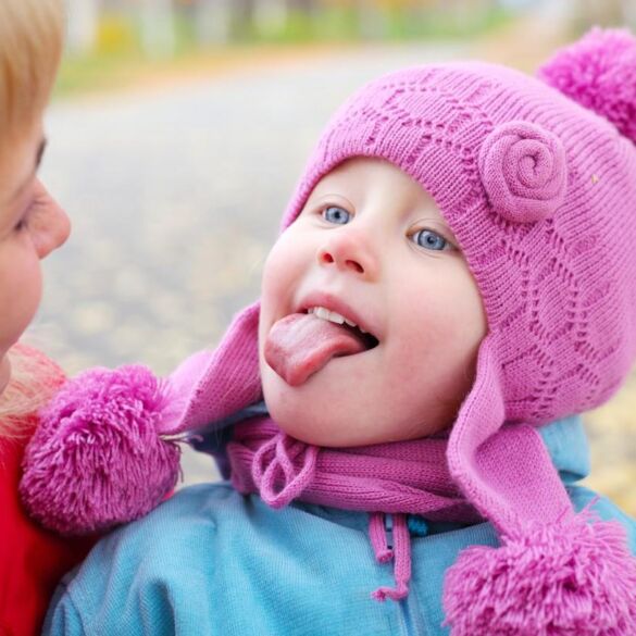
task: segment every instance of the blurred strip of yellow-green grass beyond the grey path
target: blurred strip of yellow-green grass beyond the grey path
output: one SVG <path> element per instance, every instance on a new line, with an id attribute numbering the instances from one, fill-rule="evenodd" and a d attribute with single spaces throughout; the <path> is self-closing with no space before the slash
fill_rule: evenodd
<path id="1" fill-rule="evenodd" d="M 185 15 L 174 22 L 175 46 L 170 55 L 144 53 L 140 27 L 130 16 L 102 16 L 95 51 L 66 54 L 55 86 L 55 97 L 117 90 L 161 76 L 222 72 L 237 65 L 298 57 L 326 49 L 356 46 L 363 41 L 413 41 L 458 39 L 464 41 L 495 30 L 510 21 L 502 11 L 470 20 L 448 12 L 410 13 L 387 10 L 361 24 L 351 8 L 325 8 L 311 18 L 291 12 L 284 25 L 262 24 L 260 30 L 242 30 L 226 46 L 197 45 L 194 23 Z"/>

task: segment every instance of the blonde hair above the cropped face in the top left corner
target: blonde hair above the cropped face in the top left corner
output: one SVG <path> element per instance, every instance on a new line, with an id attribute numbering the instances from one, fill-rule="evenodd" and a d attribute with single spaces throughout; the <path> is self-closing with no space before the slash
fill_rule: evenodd
<path id="1" fill-rule="evenodd" d="M 62 0 L 0 1 L 0 150 L 37 122 L 63 47 Z"/>

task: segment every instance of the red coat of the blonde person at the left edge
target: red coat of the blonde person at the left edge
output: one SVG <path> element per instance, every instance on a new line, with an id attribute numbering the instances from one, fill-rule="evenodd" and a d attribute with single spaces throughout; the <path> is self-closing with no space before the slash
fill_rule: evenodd
<path id="1" fill-rule="evenodd" d="M 63 378 L 60 374 L 53 377 L 55 384 Z M 33 429 L 35 416 L 25 424 L 27 431 Z M 2 636 L 40 634 L 49 599 L 60 578 L 84 559 L 93 543 L 58 537 L 28 519 L 17 494 L 26 441 L 0 439 Z"/>

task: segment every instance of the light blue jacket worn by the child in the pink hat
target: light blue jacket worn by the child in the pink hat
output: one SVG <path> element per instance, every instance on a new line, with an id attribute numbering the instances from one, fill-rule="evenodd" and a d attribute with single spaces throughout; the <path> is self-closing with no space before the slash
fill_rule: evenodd
<path id="1" fill-rule="evenodd" d="M 541 429 L 577 510 L 595 500 L 575 485 L 588 472 L 577 417 Z M 604 498 L 593 508 L 636 524 Z M 376 562 L 369 516 L 304 503 L 272 510 L 228 483 L 191 486 L 102 539 L 59 587 L 45 634 L 54 636 L 442 635 L 445 571 L 465 547 L 498 545 L 489 523 L 411 520 L 413 575 L 400 602 L 371 593 L 394 585 Z M 422 536 L 423 535 L 423 536 Z"/>

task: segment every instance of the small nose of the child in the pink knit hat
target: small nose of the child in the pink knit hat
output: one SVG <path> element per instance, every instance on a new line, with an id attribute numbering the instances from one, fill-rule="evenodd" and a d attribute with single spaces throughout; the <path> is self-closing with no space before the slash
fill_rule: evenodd
<path id="1" fill-rule="evenodd" d="M 345 228 L 341 228 L 345 229 Z M 369 237 L 362 232 L 347 228 L 329 232 L 328 238 L 319 249 L 317 261 L 322 266 L 335 266 L 366 279 L 375 279 L 379 262 Z"/>

